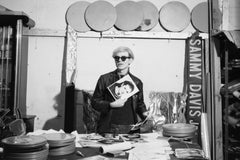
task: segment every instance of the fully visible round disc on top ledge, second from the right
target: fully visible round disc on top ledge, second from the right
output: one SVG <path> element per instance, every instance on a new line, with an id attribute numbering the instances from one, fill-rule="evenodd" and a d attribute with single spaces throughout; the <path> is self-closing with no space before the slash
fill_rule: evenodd
<path id="1" fill-rule="evenodd" d="M 180 32 L 190 24 L 190 10 L 182 2 L 168 2 L 159 11 L 159 21 L 165 30 Z"/>

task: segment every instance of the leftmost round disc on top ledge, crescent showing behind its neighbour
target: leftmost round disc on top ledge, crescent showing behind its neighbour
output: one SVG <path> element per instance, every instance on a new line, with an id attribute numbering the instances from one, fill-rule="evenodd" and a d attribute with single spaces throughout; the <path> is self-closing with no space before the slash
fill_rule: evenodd
<path id="1" fill-rule="evenodd" d="M 78 32 L 87 32 L 91 28 L 87 25 L 85 21 L 85 11 L 90 3 L 86 1 L 78 1 L 73 3 L 67 9 L 66 21 L 67 23 Z"/>

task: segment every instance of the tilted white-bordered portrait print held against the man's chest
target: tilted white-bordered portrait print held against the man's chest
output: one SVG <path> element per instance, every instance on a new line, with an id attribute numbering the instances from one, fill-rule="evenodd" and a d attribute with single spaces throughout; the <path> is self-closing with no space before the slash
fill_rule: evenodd
<path id="1" fill-rule="evenodd" d="M 115 100 L 127 99 L 139 91 L 129 75 L 124 76 L 108 86 L 108 90 Z"/>

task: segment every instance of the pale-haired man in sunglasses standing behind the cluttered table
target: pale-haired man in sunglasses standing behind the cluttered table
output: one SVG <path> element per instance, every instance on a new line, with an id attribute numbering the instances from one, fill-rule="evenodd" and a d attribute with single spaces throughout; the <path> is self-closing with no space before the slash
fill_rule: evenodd
<path id="1" fill-rule="evenodd" d="M 121 46 L 113 51 L 112 57 L 116 69 L 99 77 L 92 97 L 93 108 L 100 112 L 97 132 L 100 134 L 138 133 L 139 129 L 131 131 L 131 127 L 139 120 L 146 118 L 147 110 L 143 98 L 143 83 L 130 73 L 134 54 L 128 47 Z M 107 87 L 126 75 L 132 78 L 139 92 L 128 99 L 115 100 Z"/>

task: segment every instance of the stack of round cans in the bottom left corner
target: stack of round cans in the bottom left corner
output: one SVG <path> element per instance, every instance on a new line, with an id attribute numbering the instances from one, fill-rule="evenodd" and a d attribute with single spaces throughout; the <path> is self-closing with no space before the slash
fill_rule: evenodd
<path id="1" fill-rule="evenodd" d="M 48 145 L 42 136 L 23 135 L 2 140 L 3 156 L 8 160 L 46 160 Z"/>

